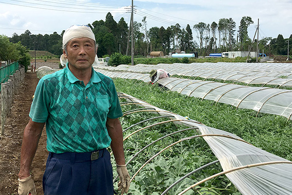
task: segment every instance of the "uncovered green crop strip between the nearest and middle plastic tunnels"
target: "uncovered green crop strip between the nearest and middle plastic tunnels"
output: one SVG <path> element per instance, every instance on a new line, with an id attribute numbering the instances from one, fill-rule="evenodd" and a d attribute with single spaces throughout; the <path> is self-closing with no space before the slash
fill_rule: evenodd
<path id="1" fill-rule="evenodd" d="M 140 98 L 159 108 L 198 120 L 203 124 L 231 132 L 274 155 L 292 160 L 292 121 L 199 98 L 187 98 L 177 92 L 135 80 L 114 79 L 117 91 Z M 133 87 L 135 86 L 135 87 Z"/>

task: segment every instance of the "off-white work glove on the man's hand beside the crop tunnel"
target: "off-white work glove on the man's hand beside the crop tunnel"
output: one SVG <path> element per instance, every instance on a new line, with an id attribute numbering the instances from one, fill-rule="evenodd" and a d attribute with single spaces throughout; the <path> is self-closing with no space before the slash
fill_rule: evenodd
<path id="1" fill-rule="evenodd" d="M 120 177 L 120 181 L 118 183 L 118 190 L 122 190 L 121 193 L 128 193 L 130 187 L 130 175 L 128 173 L 126 165 L 118 165 L 117 164 L 117 172 Z"/>

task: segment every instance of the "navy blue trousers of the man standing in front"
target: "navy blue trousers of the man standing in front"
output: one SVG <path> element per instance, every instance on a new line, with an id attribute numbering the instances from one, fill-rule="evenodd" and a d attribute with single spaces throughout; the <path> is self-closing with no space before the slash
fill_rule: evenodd
<path id="1" fill-rule="evenodd" d="M 97 154 L 98 153 L 98 154 Z M 45 195 L 113 195 L 106 149 L 92 153 L 50 153 L 43 176 Z"/>

